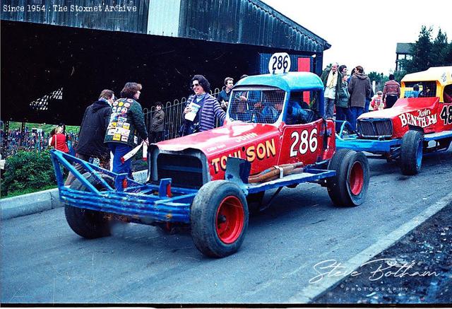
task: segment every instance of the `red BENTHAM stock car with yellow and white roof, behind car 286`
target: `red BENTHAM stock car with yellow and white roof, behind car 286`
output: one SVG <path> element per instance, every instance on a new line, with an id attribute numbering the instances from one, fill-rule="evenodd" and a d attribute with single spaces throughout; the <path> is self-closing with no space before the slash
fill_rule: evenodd
<path id="1" fill-rule="evenodd" d="M 419 173 L 424 153 L 447 150 L 452 141 L 452 66 L 407 74 L 393 107 L 357 119 L 357 134 L 337 135 L 338 148 L 398 159 L 404 175 Z"/>

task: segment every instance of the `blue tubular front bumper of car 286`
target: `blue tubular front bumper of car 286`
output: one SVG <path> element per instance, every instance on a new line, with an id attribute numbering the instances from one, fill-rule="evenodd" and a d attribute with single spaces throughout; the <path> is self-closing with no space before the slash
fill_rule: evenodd
<path id="1" fill-rule="evenodd" d="M 160 185 L 143 185 L 126 174 L 112 173 L 61 151 L 52 150 L 51 156 L 60 199 L 70 206 L 130 216 L 145 223 L 190 222 L 190 205 L 198 190 L 170 187 L 170 179 L 160 180 Z M 94 177 L 92 182 L 97 185 L 88 181 L 72 163 L 81 165 L 82 170 Z M 64 186 L 60 164 L 82 182 L 85 191 Z M 114 187 L 102 175 L 112 177 Z M 124 180 L 126 188 L 123 187 Z"/>

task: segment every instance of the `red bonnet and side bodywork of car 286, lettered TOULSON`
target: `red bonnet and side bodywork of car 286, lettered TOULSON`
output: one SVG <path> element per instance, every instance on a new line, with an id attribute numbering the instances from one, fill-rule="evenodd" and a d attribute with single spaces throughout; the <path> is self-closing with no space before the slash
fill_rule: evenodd
<path id="1" fill-rule="evenodd" d="M 193 148 L 207 158 L 212 180 L 225 179 L 227 158 L 243 158 L 251 163 L 250 174 L 273 165 L 303 162 L 304 165 L 330 159 L 335 151 L 334 123 L 327 121 L 328 146 L 323 149 L 323 120 L 309 124 L 286 125 L 231 122 L 206 132 L 179 137 L 157 144 L 162 151 Z"/>

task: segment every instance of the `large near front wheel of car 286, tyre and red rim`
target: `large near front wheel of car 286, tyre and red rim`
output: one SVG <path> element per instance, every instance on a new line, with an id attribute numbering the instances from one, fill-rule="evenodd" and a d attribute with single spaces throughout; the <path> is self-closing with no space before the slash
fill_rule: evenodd
<path id="1" fill-rule="evenodd" d="M 190 221 L 191 237 L 199 251 L 209 257 L 232 255 L 248 228 L 246 198 L 233 182 L 208 182 L 191 204 Z"/>

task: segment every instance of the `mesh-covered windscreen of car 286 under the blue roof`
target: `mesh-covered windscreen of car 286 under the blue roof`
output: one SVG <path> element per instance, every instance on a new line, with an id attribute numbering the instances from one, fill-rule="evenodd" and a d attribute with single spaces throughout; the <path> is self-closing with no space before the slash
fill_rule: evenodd
<path id="1" fill-rule="evenodd" d="M 251 123 L 275 123 L 283 111 L 285 91 L 233 90 L 228 114 L 230 119 Z"/>

